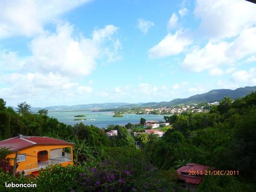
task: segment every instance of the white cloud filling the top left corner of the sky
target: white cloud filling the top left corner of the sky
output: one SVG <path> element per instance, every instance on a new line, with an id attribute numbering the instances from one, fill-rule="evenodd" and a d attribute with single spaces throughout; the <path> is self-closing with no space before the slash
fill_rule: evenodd
<path id="1" fill-rule="evenodd" d="M 0 38 L 41 34 L 45 24 L 89 1 L 3 0 L 0 2 Z"/>

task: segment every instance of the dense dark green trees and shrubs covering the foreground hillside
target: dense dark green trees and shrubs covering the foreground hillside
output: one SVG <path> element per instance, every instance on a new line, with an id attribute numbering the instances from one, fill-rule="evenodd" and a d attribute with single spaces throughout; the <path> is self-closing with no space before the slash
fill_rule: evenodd
<path id="1" fill-rule="evenodd" d="M 21 103 L 15 112 L 0 101 L 1 139 L 17 134 L 47 135 L 75 143 L 75 166 L 42 171 L 33 181 L 38 191 L 186 191 L 178 184 L 174 169 L 188 162 L 239 171 L 233 176 L 206 176 L 198 191 L 254 191 L 256 187 L 256 92 L 235 101 L 225 98 L 209 113 L 166 116 L 173 128 L 163 138 L 141 134 L 139 149 L 129 133 L 132 124 L 108 126 L 106 131 L 118 131 L 108 138 L 95 126 L 65 125 L 47 116 L 47 110 L 32 114 L 29 109 L 27 103 Z M 31 182 L 3 169 L 0 181 Z M 3 184 L 2 190 L 6 190 Z"/>

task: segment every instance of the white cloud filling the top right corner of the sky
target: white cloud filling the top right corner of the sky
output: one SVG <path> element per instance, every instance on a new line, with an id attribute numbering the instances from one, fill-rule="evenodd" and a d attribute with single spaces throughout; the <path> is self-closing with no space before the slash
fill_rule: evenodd
<path id="1" fill-rule="evenodd" d="M 254 4 L 242 0 L 197 0 L 194 10 L 199 30 L 212 39 L 234 37 L 255 25 L 255 12 Z"/>

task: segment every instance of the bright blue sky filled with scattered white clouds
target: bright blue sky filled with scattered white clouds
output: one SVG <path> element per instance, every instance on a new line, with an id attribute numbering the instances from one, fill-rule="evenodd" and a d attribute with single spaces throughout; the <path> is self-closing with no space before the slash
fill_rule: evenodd
<path id="1" fill-rule="evenodd" d="M 161 102 L 256 85 L 244 0 L 0 0 L 0 98 Z"/>

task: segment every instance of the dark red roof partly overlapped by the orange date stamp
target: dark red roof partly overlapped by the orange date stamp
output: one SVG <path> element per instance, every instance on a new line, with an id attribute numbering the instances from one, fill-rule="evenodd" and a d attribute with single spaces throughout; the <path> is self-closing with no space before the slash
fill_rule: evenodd
<path id="1" fill-rule="evenodd" d="M 199 185 L 203 180 L 202 176 L 204 175 L 205 171 L 208 170 L 209 168 L 210 166 L 188 163 L 177 170 L 179 175 L 178 179 L 185 180 L 185 182 L 187 183 Z M 198 173 L 198 175 L 188 175 L 188 173 L 190 173 L 191 171 L 195 171 L 195 173 Z"/>

